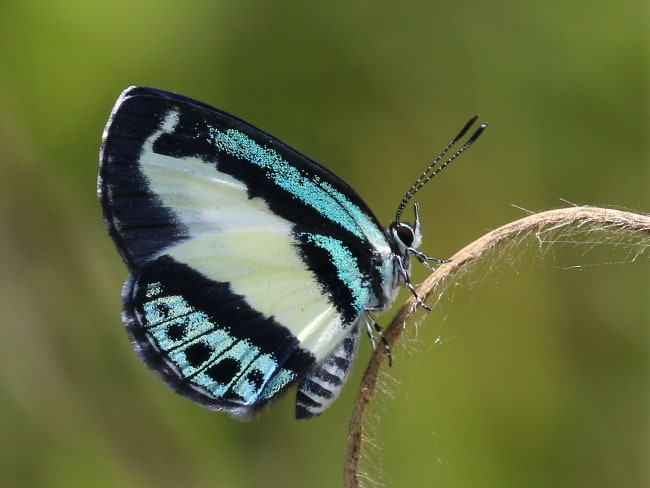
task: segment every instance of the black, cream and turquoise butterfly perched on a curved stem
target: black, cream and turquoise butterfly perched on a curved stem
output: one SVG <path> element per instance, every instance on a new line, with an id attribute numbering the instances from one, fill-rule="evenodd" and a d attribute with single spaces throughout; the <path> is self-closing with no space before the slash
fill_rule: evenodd
<path id="1" fill-rule="evenodd" d="M 371 312 L 414 294 L 421 243 L 407 203 L 381 226 L 332 172 L 252 125 L 174 93 L 130 87 L 100 149 L 104 222 L 130 276 L 122 321 L 135 351 L 177 393 L 247 419 L 297 383 L 296 418 L 322 413 L 348 379 Z M 417 294 L 415 294 L 417 296 Z"/>

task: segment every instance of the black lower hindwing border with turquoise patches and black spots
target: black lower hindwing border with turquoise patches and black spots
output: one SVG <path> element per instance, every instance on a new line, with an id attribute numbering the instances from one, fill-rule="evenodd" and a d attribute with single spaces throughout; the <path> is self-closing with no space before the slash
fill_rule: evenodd
<path id="1" fill-rule="evenodd" d="M 272 317 L 227 282 L 163 255 L 127 282 L 124 321 L 140 354 L 177 391 L 246 417 L 314 365 Z"/>

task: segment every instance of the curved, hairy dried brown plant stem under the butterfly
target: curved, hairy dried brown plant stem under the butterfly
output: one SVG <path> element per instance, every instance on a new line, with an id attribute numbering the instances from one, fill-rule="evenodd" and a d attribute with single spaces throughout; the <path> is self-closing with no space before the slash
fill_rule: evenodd
<path id="1" fill-rule="evenodd" d="M 429 303 L 432 294 L 445 280 L 476 262 L 483 254 L 499 244 L 510 242 L 523 235 L 536 235 L 566 226 L 590 226 L 594 229 L 618 229 L 650 235 L 650 216 L 599 207 L 570 207 L 529 215 L 483 235 L 458 251 L 448 263 L 441 265 L 427 278 L 419 287 L 418 295 Z M 395 344 L 404 329 L 404 324 L 416 308 L 416 301 L 411 297 L 386 328 L 384 336 L 389 345 Z M 373 399 L 379 367 L 385 358 L 385 349 L 375 348 L 363 376 L 350 419 L 344 468 L 345 486 L 348 488 L 359 486 L 358 468 L 364 442 L 364 414 Z"/>

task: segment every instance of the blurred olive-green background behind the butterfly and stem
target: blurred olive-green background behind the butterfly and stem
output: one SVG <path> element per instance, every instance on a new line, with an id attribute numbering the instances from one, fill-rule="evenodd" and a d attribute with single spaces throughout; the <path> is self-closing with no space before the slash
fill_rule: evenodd
<path id="1" fill-rule="evenodd" d="M 513 205 L 648 211 L 648 20 L 637 0 L 4 0 L 0 484 L 342 483 L 368 341 L 344 395 L 309 422 L 293 420 L 293 394 L 250 423 L 205 411 L 133 354 L 95 192 L 122 89 L 177 91 L 260 126 L 384 222 L 480 112 L 488 132 L 416 199 L 423 250 L 445 257 L 523 216 Z M 370 479 L 648 486 L 648 255 L 593 244 L 531 239 L 447 291 L 396 348 Z"/>

